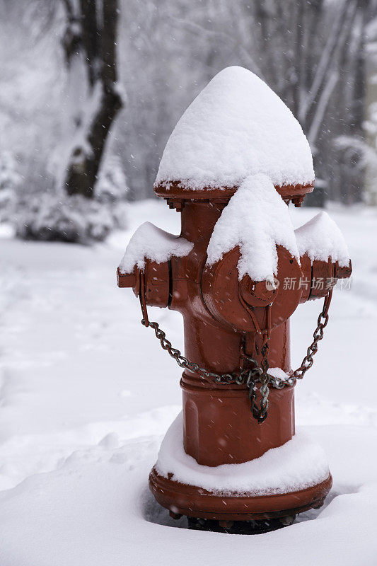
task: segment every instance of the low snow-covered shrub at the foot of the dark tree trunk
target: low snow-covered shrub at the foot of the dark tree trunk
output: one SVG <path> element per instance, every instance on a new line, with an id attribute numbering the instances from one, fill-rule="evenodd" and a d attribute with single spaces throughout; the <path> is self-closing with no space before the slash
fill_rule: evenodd
<path id="1" fill-rule="evenodd" d="M 103 241 L 113 227 L 108 207 L 80 195 L 38 195 L 16 219 L 17 236 L 25 240 L 90 243 Z"/>

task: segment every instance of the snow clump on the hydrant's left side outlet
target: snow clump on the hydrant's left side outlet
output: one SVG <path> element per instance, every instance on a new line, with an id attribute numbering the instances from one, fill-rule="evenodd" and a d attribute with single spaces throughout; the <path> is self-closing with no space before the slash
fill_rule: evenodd
<path id="1" fill-rule="evenodd" d="M 180 236 L 173 236 L 151 222 L 144 222 L 132 236 L 119 265 L 121 273 L 130 273 L 137 265 L 143 269 L 145 258 L 162 263 L 175 255 L 182 258 L 194 244 Z"/>

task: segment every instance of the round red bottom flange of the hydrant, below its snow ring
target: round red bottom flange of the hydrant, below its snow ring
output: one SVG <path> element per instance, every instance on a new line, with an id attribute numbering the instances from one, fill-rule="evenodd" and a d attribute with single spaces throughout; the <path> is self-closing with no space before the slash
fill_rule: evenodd
<path id="1" fill-rule="evenodd" d="M 304 490 L 276 495 L 216 495 L 203 487 L 163 478 L 156 468 L 149 475 L 149 488 L 156 501 L 169 511 L 197 519 L 257 521 L 291 516 L 320 507 L 332 487 L 332 477 Z"/>

